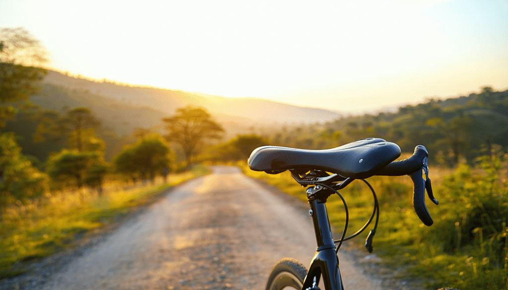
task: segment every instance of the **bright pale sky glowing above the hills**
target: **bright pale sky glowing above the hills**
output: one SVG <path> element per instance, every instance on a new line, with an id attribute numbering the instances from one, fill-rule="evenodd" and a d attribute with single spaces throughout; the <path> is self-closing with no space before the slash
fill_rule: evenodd
<path id="1" fill-rule="evenodd" d="M 508 1 L 0 0 L 71 75 L 364 113 L 508 89 Z"/>

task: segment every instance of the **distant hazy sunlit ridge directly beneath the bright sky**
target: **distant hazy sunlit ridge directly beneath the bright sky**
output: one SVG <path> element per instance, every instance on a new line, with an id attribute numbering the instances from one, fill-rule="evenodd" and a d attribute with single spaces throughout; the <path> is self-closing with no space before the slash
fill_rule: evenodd
<path id="1" fill-rule="evenodd" d="M 168 89 L 130 86 L 108 81 L 92 81 L 75 78 L 55 71 L 48 71 L 45 83 L 88 92 L 90 95 L 107 96 L 122 103 L 144 106 L 171 115 L 175 109 L 195 105 L 202 106 L 220 119 L 236 120 L 246 127 L 273 123 L 326 122 L 341 116 L 325 109 L 305 108 L 284 103 L 252 98 L 224 98 Z"/>

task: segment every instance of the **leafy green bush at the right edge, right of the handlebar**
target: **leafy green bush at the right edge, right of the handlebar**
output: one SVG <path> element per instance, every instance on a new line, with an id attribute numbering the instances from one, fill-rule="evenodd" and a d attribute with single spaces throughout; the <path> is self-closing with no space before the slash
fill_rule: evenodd
<path id="1" fill-rule="evenodd" d="M 438 252 L 460 257 L 461 262 L 446 266 L 435 255 L 422 264 L 433 269 L 446 266 L 441 271 L 448 275 L 441 275 L 461 289 L 506 289 L 508 184 L 500 178 L 500 156 L 483 156 L 478 161 L 477 170 L 460 165 L 454 174 L 444 177 L 439 194 L 442 203 L 435 214 L 439 218 L 422 237 L 433 241 Z"/>

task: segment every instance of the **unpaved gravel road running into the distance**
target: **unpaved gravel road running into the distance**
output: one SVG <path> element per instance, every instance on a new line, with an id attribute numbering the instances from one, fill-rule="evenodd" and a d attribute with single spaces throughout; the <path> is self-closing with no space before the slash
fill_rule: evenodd
<path id="1" fill-rule="evenodd" d="M 308 209 L 240 173 L 213 174 L 174 189 L 48 279 L 44 289 L 264 289 L 272 266 L 308 267 L 316 242 Z M 379 289 L 339 255 L 346 289 Z"/>

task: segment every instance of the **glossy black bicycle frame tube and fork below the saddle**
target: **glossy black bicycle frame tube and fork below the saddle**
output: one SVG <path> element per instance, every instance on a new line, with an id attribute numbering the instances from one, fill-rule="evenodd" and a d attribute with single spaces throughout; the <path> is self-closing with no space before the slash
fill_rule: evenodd
<path id="1" fill-rule="evenodd" d="M 320 276 L 323 276 L 325 289 L 343 290 L 339 270 L 339 258 L 335 252 L 335 243 L 332 238 L 325 202 L 319 199 L 309 199 L 317 249 L 310 263 L 307 276 L 303 281 L 303 290 L 313 287 L 314 277 L 316 277 L 316 285 L 319 284 Z"/>

